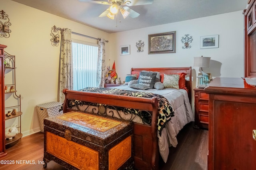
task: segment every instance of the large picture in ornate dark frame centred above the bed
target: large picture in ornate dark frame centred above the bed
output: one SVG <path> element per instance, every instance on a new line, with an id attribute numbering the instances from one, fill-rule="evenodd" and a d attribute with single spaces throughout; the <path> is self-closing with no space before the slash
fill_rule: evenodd
<path id="1" fill-rule="evenodd" d="M 176 53 L 176 31 L 148 35 L 148 54 Z"/>

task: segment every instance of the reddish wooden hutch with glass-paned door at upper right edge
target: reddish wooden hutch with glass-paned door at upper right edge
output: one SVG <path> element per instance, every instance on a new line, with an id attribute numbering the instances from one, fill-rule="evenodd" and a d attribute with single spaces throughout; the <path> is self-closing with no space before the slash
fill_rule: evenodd
<path id="1" fill-rule="evenodd" d="M 244 10 L 244 77 L 256 77 L 256 0 Z"/>

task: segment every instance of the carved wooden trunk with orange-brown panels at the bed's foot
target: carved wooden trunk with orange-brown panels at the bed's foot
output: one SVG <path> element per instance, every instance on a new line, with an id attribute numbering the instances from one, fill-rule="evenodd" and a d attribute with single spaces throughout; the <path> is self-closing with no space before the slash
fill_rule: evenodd
<path id="1" fill-rule="evenodd" d="M 44 119 L 44 162 L 67 169 L 117 170 L 133 162 L 133 124 L 72 111 Z"/>

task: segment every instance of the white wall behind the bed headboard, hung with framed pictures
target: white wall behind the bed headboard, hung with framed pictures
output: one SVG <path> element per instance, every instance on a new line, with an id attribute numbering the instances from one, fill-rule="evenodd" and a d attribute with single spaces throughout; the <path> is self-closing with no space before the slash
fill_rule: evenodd
<path id="1" fill-rule="evenodd" d="M 120 23 L 122 24 L 122 23 Z M 168 23 L 132 31 L 111 34 L 110 67 L 115 61 L 118 76 L 123 81 L 131 67 L 182 67 L 192 66 L 194 57 L 211 57 L 210 68 L 204 68 L 213 77 L 244 76 L 244 15 L 231 12 L 194 20 Z M 176 53 L 148 55 L 148 34 L 176 31 Z M 190 49 L 182 49 L 185 34 L 192 36 Z M 200 49 L 200 36 L 219 35 L 219 48 Z M 144 52 L 137 52 L 136 43 L 144 41 Z M 113 42 L 113 43 L 112 43 Z M 130 45 L 130 55 L 119 55 L 121 45 Z M 196 83 L 193 83 L 193 87 Z"/>

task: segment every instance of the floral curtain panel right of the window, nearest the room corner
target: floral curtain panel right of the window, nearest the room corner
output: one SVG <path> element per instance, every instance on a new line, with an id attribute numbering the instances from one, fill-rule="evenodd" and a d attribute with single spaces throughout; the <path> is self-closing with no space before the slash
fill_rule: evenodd
<path id="1" fill-rule="evenodd" d="M 98 39 L 97 87 L 104 87 L 105 82 L 105 39 Z"/>

